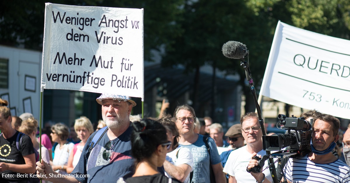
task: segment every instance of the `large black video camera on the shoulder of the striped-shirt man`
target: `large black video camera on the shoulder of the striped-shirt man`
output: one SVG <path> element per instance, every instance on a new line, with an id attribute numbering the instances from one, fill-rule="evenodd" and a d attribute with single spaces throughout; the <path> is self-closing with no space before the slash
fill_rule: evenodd
<path id="1" fill-rule="evenodd" d="M 278 119 L 280 120 L 278 123 L 281 123 L 281 126 L 283 125 L 287 132 L 286 134 L 263 135 L 264 150 L 279 151 L 286 148 L 285 152 L 293 153 L 291 157 L 300 157 L 309 153 L 311 151 L 312 135 L 310 122 L 304 118 L 296 118 L 293 115 L 292 118 L 287 118 L 283 114 L 279 114 Z"/>

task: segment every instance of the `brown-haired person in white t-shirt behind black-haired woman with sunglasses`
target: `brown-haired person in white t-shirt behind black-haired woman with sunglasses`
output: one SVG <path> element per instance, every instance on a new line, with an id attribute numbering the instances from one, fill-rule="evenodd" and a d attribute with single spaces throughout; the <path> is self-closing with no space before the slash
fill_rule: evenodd
<path id="1" fill-rule="evenodd" d="M 193 156 L 188 148 L 179 146 L 180 135 L 174 122 L 175 119 L 170 115 L 165 115 L 157 121 L 165 127 L 168 141 L 172 142 L 163 164 L 165 175 L 184 183 L 190 182 L 190 172 L 193 171 Z"/>

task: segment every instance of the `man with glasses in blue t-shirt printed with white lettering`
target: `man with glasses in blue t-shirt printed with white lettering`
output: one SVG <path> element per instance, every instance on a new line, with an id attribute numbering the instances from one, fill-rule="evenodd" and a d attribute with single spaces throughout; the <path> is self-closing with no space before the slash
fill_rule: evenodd
<path id="1" fill-rule="evenodd" d="M 180 133 L 179 145 L 188 148 L 193 155 L 192 182 L 226 182 L 214 140 L 209 136 L 194 133 L 194 124 L 196 123 L 194 109 L 189 105 L 177 106 L 174 117 L 176 118 L 176 127 Z M 209 151 L 206 144 L 209 146 Z M 213 176 L 215 176 L 215 180 L 211 181 L 210 177 Z"/>

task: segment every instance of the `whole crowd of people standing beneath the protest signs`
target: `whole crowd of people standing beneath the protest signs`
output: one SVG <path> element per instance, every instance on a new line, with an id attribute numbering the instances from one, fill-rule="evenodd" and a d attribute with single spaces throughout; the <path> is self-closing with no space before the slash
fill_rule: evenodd
<path id="1" fill-rule="evenodd" d="M 189 105 L 170 115 L 163 100 L 159 117 L 141 119 L 130 115 L 136 105 L 130 97 L 102 94 L 96 101 L 103 119 L 96 129 L 82 116 L 72 126 L 73 136 L 57 123 L 51 139 L 42 134 L 40 144 L 33 115 L 12 116 L 0 99 L 0 182 L 268 183 L 269 166 L 275 166 L 278 182 L 350 181 L 350 128 L 339 135 L 340 121 L 328 114 L 301 115 L 312 122 L 309 152 L 272 165 L 265 161 L 256 170 L 252 157 L 266 152 L 254 112 L 224 132 L 210 117 L 198 119 Z"/>

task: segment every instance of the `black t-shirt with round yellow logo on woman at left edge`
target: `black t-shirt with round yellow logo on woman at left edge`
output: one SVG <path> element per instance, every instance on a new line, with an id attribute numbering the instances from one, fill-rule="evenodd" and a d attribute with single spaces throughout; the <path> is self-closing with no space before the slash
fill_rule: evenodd
<path id="1" fill-rule="evenodd" d="M 3 135 L 0 136 L 0 162 L 12 163 L 12 164 L 26 164 L 23 156 L 34 154 L 34 147 L 31 139 L 28 135 L 23 134 L 22 141 L 19 142 L 22 153 L 16 147 L 16 138 L 18 131 L 8 139 L 5 139 Z M 21 138 L 19 138 L 19 141 Z M 34 173 L 34 172 L 33 172 Z M 0 182 L 27 182 L 28 174 L 19 174 L 22 177 L 18 177 L 17 172 L 2 171 L 0 172 Z"/>

